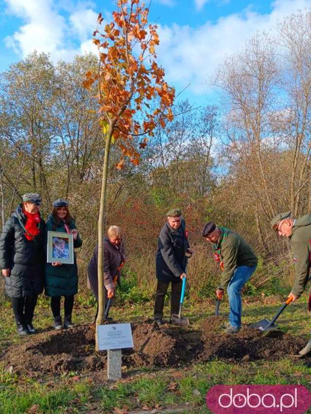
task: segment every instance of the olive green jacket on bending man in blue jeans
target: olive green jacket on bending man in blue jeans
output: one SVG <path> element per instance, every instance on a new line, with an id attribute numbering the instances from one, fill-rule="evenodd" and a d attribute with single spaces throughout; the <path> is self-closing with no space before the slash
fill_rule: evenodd
<path id="1" fill-rule="evenodd" d="M 220 255 L 223 262 L 223 272 L 218 285 L 219 289 L 225 289 L 233 272 L 238 266 L 253 267 L 257 265 L 257 257 L 253 249 L 245 242 L 240 234 L 221 228 L 221 236 L 217 243 L 213 244 L 213 252 Z M 225 232 L 224 232 L 224 231 Z"/>

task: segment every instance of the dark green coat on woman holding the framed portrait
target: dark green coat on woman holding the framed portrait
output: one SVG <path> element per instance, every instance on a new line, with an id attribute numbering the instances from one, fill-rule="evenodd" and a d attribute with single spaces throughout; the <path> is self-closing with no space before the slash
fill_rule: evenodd
<path id="1" fill-rule="evenodd" d="M 76 229 L 75 221 L 69 223 L 69 229 Z M 66 233 L 64 222 L 60 221 L 56 225 L 54 217 L 50 214 L 46 222 L 45 245 L 47 246 L 48 232 Z M 73 247 L 82 246 L 82 240 L 78 234 L 77 240 L 73 242 Z M 76 255 L 74 253 L 73 265 L 52 266 L 51 263 L 45 265 L 45 294 L 47 296 L 71 296 L 78 292 L 78 268 Z"/>

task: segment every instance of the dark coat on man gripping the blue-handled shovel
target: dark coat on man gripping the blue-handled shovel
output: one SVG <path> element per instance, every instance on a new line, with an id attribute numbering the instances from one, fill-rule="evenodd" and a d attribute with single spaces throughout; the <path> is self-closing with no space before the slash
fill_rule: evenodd
<path id="1" fill-rule="evenodd" d="M 180 282 L 180 275 L 186 271 L 186 224 L 181 220 L 179 229 L 174 230 L 168 222 L 159 234 L 155 256 L 156 277 L 163 282 Z"/>

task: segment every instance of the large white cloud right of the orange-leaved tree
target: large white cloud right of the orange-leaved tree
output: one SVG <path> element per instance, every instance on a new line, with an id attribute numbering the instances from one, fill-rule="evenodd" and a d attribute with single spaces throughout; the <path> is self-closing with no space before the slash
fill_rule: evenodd
<path id="1" fill-rule="evenodd" d="M 276 0 L 270 14 L 259 14 L 251 7 L 240 14 L 221 17 L 215 24 L 200 27 L 159 26 L 159 61 L 171 84 L 185 86 L 203 95 L 207 80 L 225 57 L 241 50 L 255 32 L 268 31 L 285 16 L 311 7 L 311 0 Z"/>

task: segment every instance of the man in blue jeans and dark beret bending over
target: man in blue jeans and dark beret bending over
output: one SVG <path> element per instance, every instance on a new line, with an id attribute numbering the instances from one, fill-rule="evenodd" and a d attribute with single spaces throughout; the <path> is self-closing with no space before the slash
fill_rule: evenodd
<path id="1" fill-rule="evenodd" d="M 226 333 L 237 333 L 241 329 L 241 290 L 256 270 L 257 257 L 239 234 L 216 226 L 212 221 L 204 226 L 202 235 L 212 244 L 215 261 L 222 270 L 217 298 L 221 299 L 227 288 L 230 313 Z"/>

